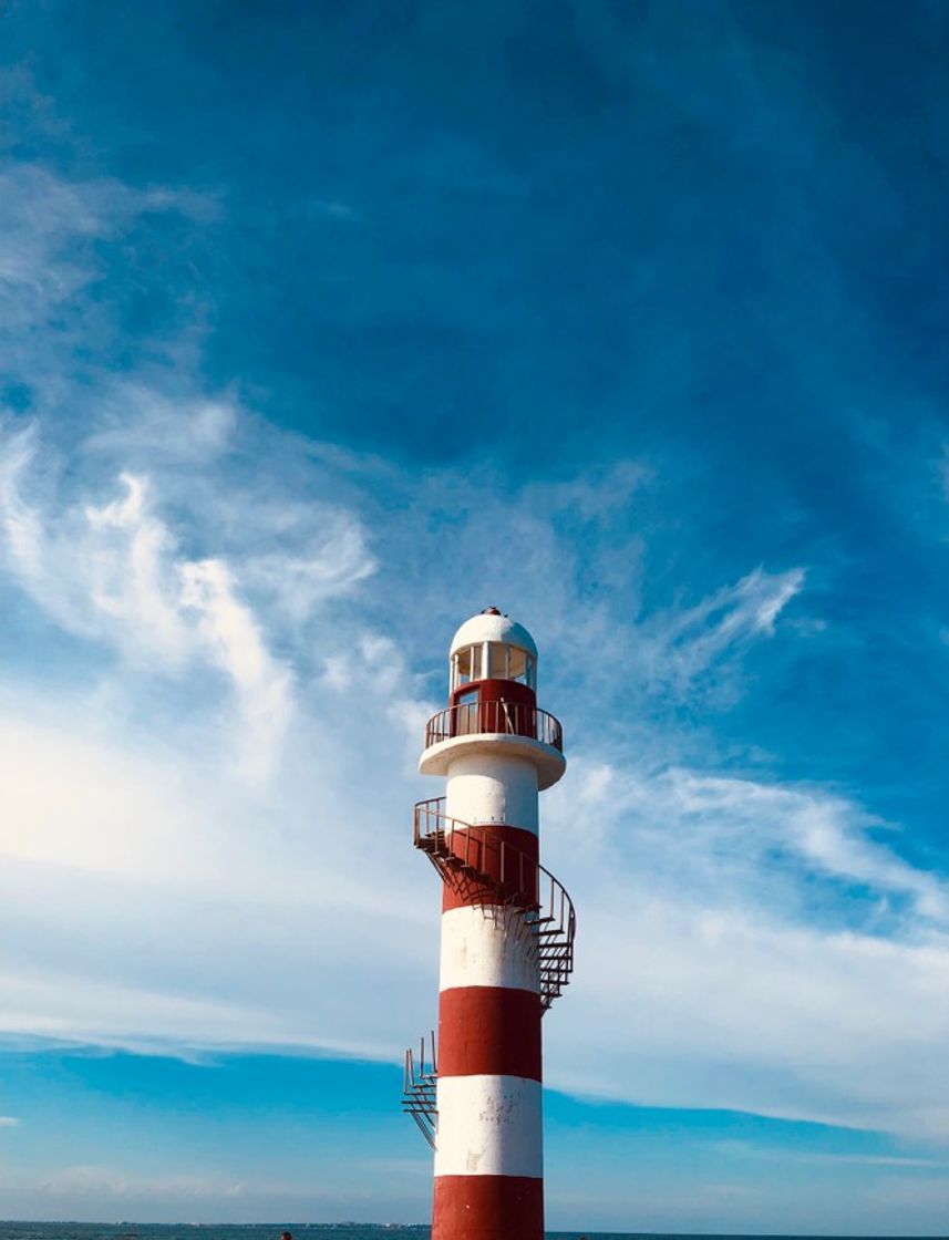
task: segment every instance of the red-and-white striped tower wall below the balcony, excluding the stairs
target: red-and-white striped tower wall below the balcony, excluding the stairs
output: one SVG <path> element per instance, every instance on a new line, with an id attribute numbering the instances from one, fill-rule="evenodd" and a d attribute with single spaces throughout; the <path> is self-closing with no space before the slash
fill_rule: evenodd
<path id="1" fill-rule="evenodd" d="M 490 825 L 491 856 L 506 844 L 536 862 L 537 800 L 524 758 L 449 768 L 448 818 Z M 538 961 L 522 915 L 492 899 L 444 890 L 433 1240 L 543 1236 Z"/>

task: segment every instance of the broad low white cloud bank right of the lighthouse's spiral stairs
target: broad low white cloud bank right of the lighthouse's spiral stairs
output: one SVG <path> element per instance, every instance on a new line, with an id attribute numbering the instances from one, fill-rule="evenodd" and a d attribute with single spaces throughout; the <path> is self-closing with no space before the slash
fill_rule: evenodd
<path id="1" fill-rule="evenodd" d="M 568 1018 L 563 1084 L 949 1136 L 949 884 L 820 789 L 584 766 L 547 839 L 583 910 L 574 997 L 602 1058 Z"/>

